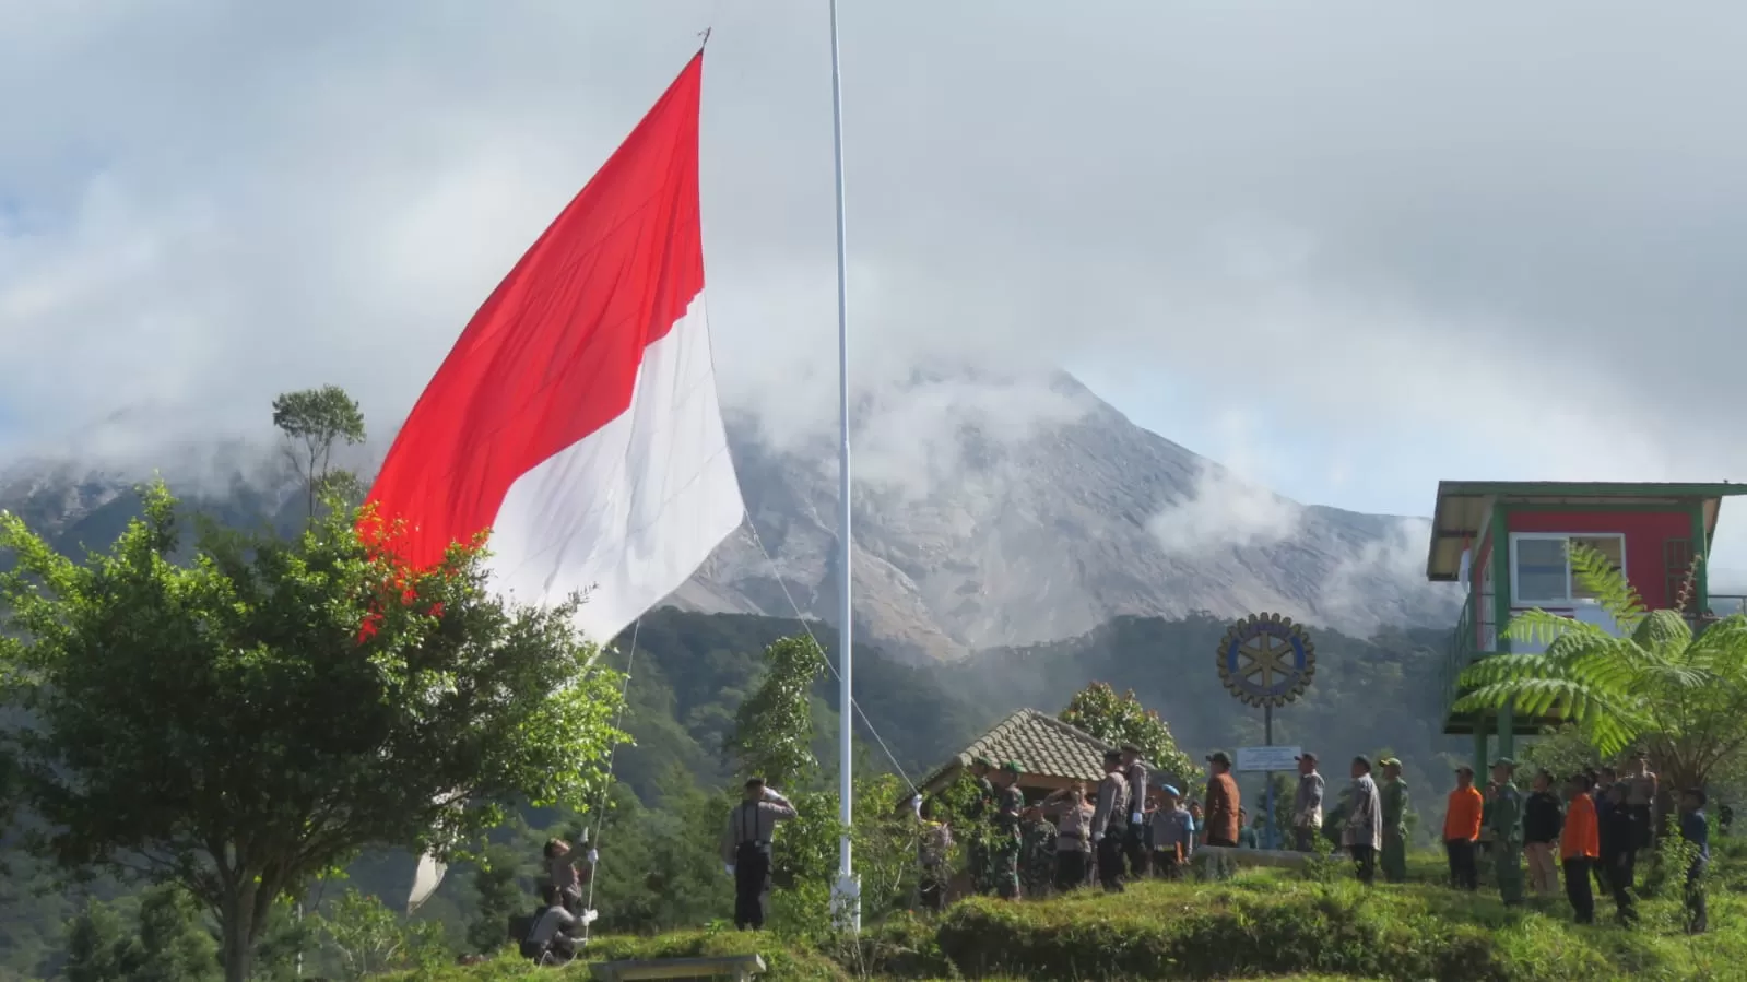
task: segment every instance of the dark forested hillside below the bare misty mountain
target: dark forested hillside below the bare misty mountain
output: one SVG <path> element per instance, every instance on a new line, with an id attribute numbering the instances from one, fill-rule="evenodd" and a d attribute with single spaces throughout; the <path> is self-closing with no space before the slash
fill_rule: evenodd
<path id="1" fill-rule="evenodd" d="M 812 627 L 835 664 L 835 636 Z M 660 610 L 618 640 L 611 657 L 631 674 L 624 729 L 636 744 L 617 755 L 620 786 L 599 839 L 596 903 L 603 930 L 695 926 L 727 910 L 728 882 L 715 851 L 722 821 L 718 795 L 730 772 L 723 741 L 741 699 L 758 681 L 765 645 L 800 631 L 793 620 Z M 938 667 L 903 664 L 877 648 L 858 647 L 858 702 L 912 779 L 1005 713 L 1019 706 L 1057 711 L 1092 680 L 1134 688 L 1143 702 L 1164 713 L 1191 753 L 1260 743 L 1260 713 L 1219 688 L 1214 647 L 1223 631 L 1225 622 L 1212 617 L 1122 619 L 1080 640 L 1024 652 L 992 650 Z M 1317 631 L 1314 638 L 1315 683 L 1300 704 L 1277 715 L 1277 741 L 1314 746 L 1331 760 L 1387 746 L 1406 760 L 1413 786 L 1426 790 L 1419 799 L 1422 807 L 1441 795 L 1438 753 L 1447 746 L 1431 713 L 1436 654 L 1429 645 L 1436 638 L 1391 633 L 1361 641 L 1333 631 Z M 830 771 L 837 734 L 837 683 L 830 676 L 816 687 L 814 720 L 816 753 Z M 867 729 L 860 734 L 863 767 L 889 771 L 891 762 L 865 739 Z M 578 813 L 597 811 L 597 802 L 524 809 L 522 819 L 498 837 L 503 860 L 498 900 L 482 912 L 479 886 L 493 877 L 454 867 L 419 917 L 465 945 L 468 931 L 479 930 L 475 923 L 489 924 L 503 914 L 491 903 L 514 909 L 526 903 L 542 835 L 563 833 L 587 821 Z M 14 875 L 0 882 L 0 979 L 7 972 L 17 979 L 52 977 L 65 961 L 65 923 L 86 896 L 110 900 L 129 893 L 103 881 L 77 888 L 54 882 L 16 851 L 9 861 Z M 353 888 L 400 907 L 411 875 L 411 856 L 369 854 L 349 868 L 348 879 L 318 886 L 307 900 L 332 907 Z M 288 931 L 290 919 L 280 926 Z M 288 972 L 290 961 L 283 968 Z"/>

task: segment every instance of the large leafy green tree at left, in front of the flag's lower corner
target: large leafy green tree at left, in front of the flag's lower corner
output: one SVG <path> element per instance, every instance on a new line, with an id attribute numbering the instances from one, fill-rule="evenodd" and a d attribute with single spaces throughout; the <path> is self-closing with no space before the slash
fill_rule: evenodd
<path id="1" fill-rule="evenodd" d="M 477 547 L 409 570 L 346 508 L 176 564 L 176 503 L 143 498 L 86 563 L 0 515 L 0 748 L 35 849 L 187 888 L 229 982 L 274 902 L 360 849 L 449 856 L 501 802 L 599 785 L 618 687 L 571 627 L 580 599 L 507 605 Z"/>

